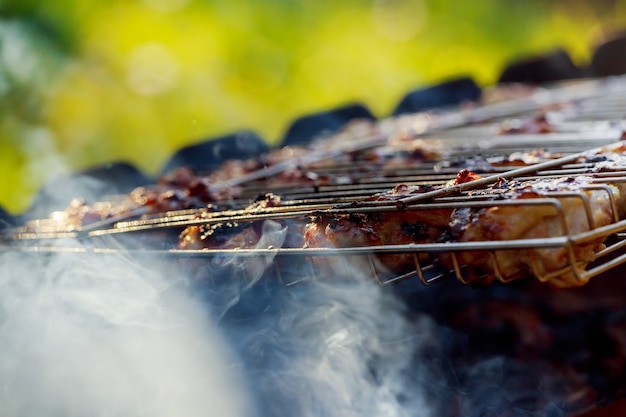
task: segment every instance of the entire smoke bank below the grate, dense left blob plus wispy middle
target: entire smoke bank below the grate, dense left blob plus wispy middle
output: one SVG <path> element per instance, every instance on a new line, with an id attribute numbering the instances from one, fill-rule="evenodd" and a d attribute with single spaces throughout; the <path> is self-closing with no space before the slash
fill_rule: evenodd
<path id="1" fill-rule="evenodd" d="M 431 415 L 412 367 L 429 324 L 376 284 L 260 283 L 254 318 L 218 329 L 170 267 L 0 254 L 0 416 Z"/>

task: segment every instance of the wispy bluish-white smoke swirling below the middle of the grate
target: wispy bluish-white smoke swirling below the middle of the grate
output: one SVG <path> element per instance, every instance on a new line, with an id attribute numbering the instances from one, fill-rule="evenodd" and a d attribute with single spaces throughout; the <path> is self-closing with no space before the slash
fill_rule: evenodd
<path id="1" fill-rule="evenodd" d="M 361 280 L 308 282 L 252 298 L 263 314 L 228 323 L 263 416 L 431 416 L 417 350 L 433 323 Z M 261 301 L 259 301 L 261 299 Z M 242 303 L 246 303 L 242 297 Z"/>

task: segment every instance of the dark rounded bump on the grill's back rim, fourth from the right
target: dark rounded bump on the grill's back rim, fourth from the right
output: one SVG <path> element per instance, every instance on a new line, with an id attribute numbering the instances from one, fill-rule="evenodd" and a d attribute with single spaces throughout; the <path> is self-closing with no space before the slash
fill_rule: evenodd
<path id="1" fill-rule="evenodd" d="M 355 119 L 374 120 L 375 117 L 362 104 L 350 104 L 334 110 L 302 116 L 289 126 L 281 145 L 306 145 L 316 138 L 337 132 Z"/>

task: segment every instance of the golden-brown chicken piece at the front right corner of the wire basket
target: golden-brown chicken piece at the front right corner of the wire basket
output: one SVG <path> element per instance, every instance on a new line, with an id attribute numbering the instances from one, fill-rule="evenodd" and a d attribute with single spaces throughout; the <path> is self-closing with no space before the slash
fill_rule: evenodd
<path id="1" fill-rule="evenodd" d="M 519 204 L 495 204 L 484 208 L 460 208 L 451 216 L 450 228 L 444 240 L 451 242 L 511 241 L 517 239 L 541 239 L 576 235 L 593 228 L 605 226 L 615 219 L 611 196 L 606 189 L 589 188 L 592 178 L 588 176 L 539 179 L 534 181 L 507 182 L 501 180 L 492 188 L 472 192 L 475 196 L 503 201 L 515 200 Z M 615 201 L 622 201 L 620 190 L 609 186 Z M 539 198 L 552 198 L 555 204 L 534 204 Z M 589 202 L 589 213 L 585 208 Z M 535 200 L 535 201 L 533 201 Z M 595 253 L 603 247 L 604 238 L 597 238 L 573 247 L 572 257 L 578 271 L 595 259 Z M 453 268 L 453 256 L 439 256 L 441 263 Z M 463 251 L 456 254 L 457 264 L 463 269 L 468 282 L 503 281 L 534 274 L 555 287 L 573 287 L 585 284 L 578 279 L 565 247 L 498 250 L 494 258 L 484 251 Z M 560 271 L 560 272 L 559 272 Z"/>

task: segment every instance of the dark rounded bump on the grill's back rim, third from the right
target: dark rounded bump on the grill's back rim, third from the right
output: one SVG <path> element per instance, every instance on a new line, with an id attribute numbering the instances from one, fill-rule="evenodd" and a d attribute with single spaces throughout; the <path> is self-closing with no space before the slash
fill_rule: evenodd
<path id="1" fill-rule="evenodd" d="M 481 89 L 474 80 L 469 77 L 456 78 L 408 93 L 393 111 L 393 115 L 454 106 L 466 101 L 476 101 L 480 96 Z"/>

